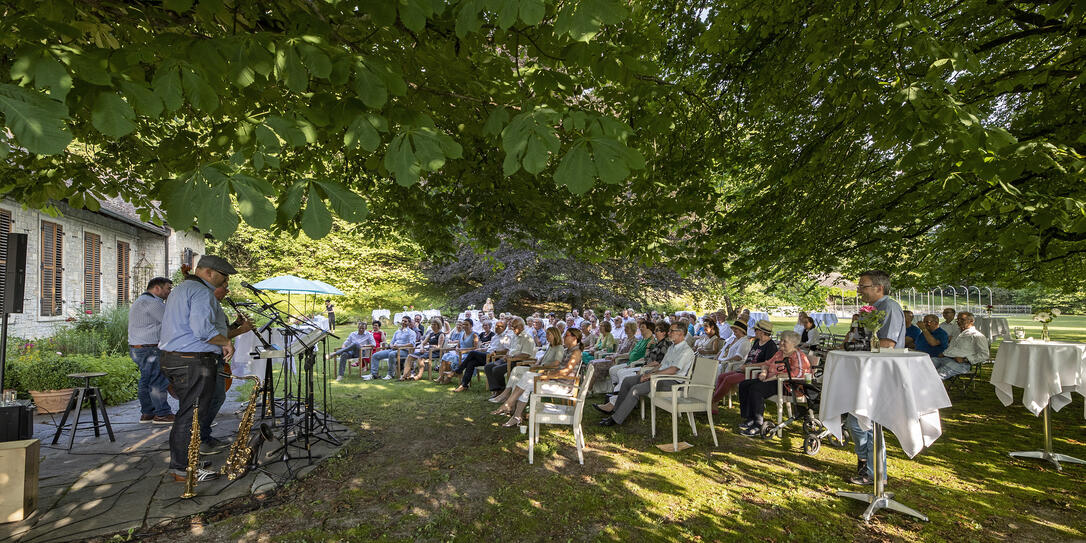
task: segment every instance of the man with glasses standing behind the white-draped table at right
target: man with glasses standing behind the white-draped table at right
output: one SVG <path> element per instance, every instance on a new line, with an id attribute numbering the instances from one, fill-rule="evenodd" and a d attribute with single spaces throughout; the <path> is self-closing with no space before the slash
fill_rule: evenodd
<path id="1" fill-rule="evenodd" d="M 901 349 L 905 346 L 905 312 L 897 302 L 886 295 L 889 291 L 889 275 L 880 269 L 860 274 L 856 290 L 864 303 L 871 304 L 875 311 L 885 312 L 883 321 L 875 336 L 881 349 Z M 860 421 L 855 415 L 848 415 L 848 431 L 856 443 L 856 475 L 848 479 L 854 484 L 871 484 L 874 482 L 872 456 L 874 456 L 874 432 L 860 428 Z M 886 451 L 879 451 L 880 472 L 886 477 Z"/>

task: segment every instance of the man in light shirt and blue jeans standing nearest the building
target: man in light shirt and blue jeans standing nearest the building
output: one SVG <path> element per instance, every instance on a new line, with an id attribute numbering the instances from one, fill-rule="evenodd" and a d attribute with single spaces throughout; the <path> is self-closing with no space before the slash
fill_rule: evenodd
<path id="1" fill-rule="evenodd" d="M 147 290 L 136 298 L 128 310 L 128 355 L 139 367 L 139 421 L 156 425 L 174 424 L 174 414 L 167 402 L 169 381 L 159 365 L 159 339 L 162 332 L 162 314 L 174 281 L 155 277 Z"/>

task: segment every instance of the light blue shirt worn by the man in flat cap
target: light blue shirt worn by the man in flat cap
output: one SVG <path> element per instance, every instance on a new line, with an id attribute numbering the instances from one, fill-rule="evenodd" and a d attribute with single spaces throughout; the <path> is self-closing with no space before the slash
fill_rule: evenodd
<path id="1" fill-rule="evenodd" d="M 211 283 L 200 278 L 181 281 L 166 299 L 159 349 L 182 353 L 220 353 L 223 348 L 207 341 L 224 334 L 217 326 L 222 312 Z M 223 317 L 226 320 L 225 314 Z"/>

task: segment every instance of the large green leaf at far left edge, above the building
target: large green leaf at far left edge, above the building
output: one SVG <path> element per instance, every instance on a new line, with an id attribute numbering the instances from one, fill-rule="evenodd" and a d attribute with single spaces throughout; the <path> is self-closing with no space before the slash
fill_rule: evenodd
<path id="1" fill-rule="evenodd" d="M 56 154 L 72 142 L 63 103 L 0 83 L 0 113 L 15 141 L 34 154 Z"/>

